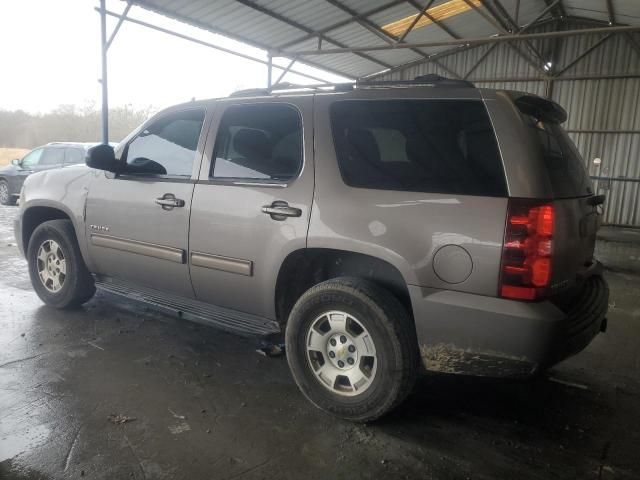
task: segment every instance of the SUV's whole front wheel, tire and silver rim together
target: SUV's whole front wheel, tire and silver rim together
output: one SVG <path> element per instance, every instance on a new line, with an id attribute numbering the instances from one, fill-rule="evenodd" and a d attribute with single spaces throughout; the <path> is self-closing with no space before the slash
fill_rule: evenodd
<path id="1" fill-rule="evenodd" d="M 27 260 L 33 289 L 47 305 L 73 308 L 93 297 L 96 291 L 93 276 L 84 263 L 70 220 L 40 224 L 29 240 Z"/>

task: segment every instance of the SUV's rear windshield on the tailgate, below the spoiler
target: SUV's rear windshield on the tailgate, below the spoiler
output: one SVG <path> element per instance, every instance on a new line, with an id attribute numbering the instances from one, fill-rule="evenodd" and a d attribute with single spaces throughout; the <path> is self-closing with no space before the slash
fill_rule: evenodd
<path id="1" fill-rule="evenodd" d="M 573 198 L 591 195 L 591 179 L 584 161 L 564 128 L 532 114 L 521 112 L 521 115 L 540 147 L 553 196 Z"/>

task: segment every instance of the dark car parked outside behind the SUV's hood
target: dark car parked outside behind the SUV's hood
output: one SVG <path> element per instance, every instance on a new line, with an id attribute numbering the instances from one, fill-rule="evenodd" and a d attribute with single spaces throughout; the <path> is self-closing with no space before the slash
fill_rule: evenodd
<path id="1" fill-rule="evenodd" d="M 35 172 L 84 163 L 87 149 L 94 143 L 48 143 L 34 148 L 21 160 L 0 168 L 0 204 L 15 205 L 25 178 Z"/>

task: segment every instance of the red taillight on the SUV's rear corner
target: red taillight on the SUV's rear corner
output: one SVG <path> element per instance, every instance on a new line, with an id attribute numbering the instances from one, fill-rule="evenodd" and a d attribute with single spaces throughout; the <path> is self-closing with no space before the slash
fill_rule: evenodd
<path id="1" fill-rule="evenodd" d="M 551 280 L 553 204 L 510 199 L 502 250 L 500 295 L 542 298 Z"/>

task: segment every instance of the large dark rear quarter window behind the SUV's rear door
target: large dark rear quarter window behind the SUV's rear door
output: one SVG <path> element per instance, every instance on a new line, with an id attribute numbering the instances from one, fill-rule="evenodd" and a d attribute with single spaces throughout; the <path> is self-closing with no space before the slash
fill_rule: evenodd
<path id="1" fill-rule="evenodd" d="M 480 101 L 340 101 L 331 106 L 331 126 L 342 177 L 352 187 L 507 195 Z"/>

